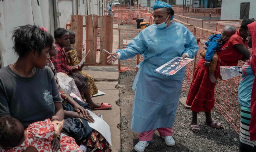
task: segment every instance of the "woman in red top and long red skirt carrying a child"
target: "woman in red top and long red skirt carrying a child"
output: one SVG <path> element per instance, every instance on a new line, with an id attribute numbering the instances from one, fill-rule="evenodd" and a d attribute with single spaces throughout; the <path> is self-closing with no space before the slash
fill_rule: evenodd
<path id="1" fill-rule="evenodd" d="M 218 54 L 218 64 L 214 73 L 215 78 L 220 74 L 219 66 L 237 66 L 238 61 L 242 58 L 248 59 L 250 51 L 247 49 L 247 25 L 255 21 L 254 19 L 244 19 L 241 23 L 241 28 L 230 37 L 229 41 L 216 50 Z M 191 130 L 200 133 L 200 128 L 197 124 L 197 113 L 205 112 L 205 124 L 218 129 L 223 129 L 221 123 L 212 120 L 211 110 L 214 106 L 214 89 L 215 85 L 208 78 L 209 69 L 204 67 L 205 59 L 201 58 L 195 68 L 193 79 L 190 85 L 190 90 L 187 95 L 187 105 L 191 106 L 192 122 Z"/>

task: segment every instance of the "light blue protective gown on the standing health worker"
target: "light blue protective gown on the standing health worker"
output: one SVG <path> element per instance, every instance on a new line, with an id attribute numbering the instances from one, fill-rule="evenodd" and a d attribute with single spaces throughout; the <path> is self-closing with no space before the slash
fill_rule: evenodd
<path id="1" fill-rule="evenodd" d="M 136 88 L 132 130 L 149 131 L 160 127 L 172 127 L 180 96 L 185 68 L 172 76 L 155 73 L 154 70 L 169 60 L 187 53 L 193 58 L 198 50 L 195 37 L 180 23 L 163 29 L 155 25 L 142 30 L 126 47 L 119 49 L 120 60 L 142 54 L 144 60 L 133 83 Z"/>

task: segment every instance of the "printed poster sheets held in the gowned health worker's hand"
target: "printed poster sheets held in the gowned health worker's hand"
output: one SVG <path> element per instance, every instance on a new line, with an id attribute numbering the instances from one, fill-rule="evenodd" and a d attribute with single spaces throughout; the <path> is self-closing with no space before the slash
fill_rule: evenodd
<path id="1" fill-rule="evenodd" d="M 174 57 L 172 60 L 163 64 L 161 67 L 158 67 L 154 70 L 155 73 L 170 76 L 176 74 L 181 68 L 185 67 L 188 63 L 192 62 L 194 59 L 181 57 Z"/>

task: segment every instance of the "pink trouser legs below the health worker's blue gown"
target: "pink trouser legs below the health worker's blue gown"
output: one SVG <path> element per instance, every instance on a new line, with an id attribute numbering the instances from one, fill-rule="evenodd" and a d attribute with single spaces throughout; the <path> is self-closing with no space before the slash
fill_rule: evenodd
<path id="1" fill-rule="evenodd" d="M 161 136 L 172 136 L 173 130 L 172 128 L 157 128 L 159 134 Z M 153 140 L 155 130 L 144 131 L 139 134 L 140 141 L 151 141 Z"/>

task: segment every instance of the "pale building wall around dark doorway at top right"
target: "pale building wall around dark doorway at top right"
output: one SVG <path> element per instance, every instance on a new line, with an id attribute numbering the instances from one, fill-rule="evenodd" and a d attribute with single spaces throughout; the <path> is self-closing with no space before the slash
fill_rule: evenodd
<path id="1" fill-rule="evenodd" d="M 250 2 L 249 18 L 256 18 L 256 0 L 222 0 L 221 20 L 237 20 L 240 17 L 240 4 Z"/>

